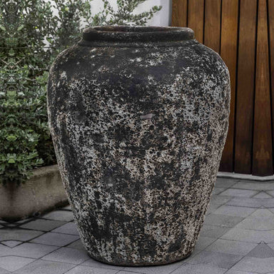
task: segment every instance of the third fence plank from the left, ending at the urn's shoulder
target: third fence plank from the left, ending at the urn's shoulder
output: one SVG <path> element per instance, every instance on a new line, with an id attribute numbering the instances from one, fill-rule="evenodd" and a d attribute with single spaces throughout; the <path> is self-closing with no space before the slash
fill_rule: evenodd
<path id="1" fill-rule="evenodd" d="M 220 7 L 221 0 L 205 1 L 204 44 L 220 53 Z"/>

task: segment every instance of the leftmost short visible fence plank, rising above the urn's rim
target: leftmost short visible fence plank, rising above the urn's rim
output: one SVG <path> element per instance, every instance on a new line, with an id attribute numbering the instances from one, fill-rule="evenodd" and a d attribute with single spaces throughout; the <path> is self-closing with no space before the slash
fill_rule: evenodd
<path id="1" fill-rule="evenodd" d="M 172 26 L 188 25 L 188 0 L 172 1 Z"/>

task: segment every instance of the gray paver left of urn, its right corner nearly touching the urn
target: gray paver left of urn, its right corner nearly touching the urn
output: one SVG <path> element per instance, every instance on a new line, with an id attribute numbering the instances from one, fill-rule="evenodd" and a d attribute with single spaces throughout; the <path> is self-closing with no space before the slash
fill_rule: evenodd
<path id="1" fill-rule="evenodd" d="M 60 233 L 52 233 L 48 232 L 44 235 L 31 240 L 31 243 L 41 243 L 44 245 L 56 245 L 56 246 L 64 246 L 68 245 L 69 243 L 78 240 L 77 235 L 68 235 L 68 234 L 60 234 Z"/>

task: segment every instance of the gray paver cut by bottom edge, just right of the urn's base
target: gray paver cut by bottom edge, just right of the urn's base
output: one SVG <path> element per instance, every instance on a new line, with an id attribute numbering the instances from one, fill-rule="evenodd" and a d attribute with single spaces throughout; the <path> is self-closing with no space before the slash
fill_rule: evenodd
<path id="1" fill-rule="evenodd" d="M 208 265 L 182 265 L 173 271 L 172 274 L 223 274 L 227 269 L 213 268 Z M 120 274 L 120 273 L 119 273 Z"/>

